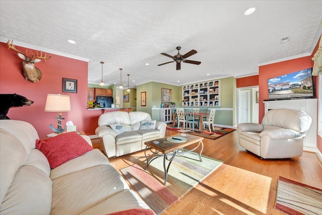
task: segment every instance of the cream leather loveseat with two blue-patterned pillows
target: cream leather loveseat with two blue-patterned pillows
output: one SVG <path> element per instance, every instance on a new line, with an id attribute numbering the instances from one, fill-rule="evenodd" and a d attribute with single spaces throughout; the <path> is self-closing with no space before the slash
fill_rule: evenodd
<path id="1" fill-rule="evenodd" d="M 165 136 L 167 124 L 155 121 L 155 129 L 140 129 L 141 122 L 153 121 L 148 113 L 140 111 L 113 111 L 99 117 L 95 133 L 101 138 L 101 148 L 110 157 L 118 157 L 145 149 L 144 142 Z M 116 123 L 123 131 L 111 128 Z M 154 122 L 153 122 L 154 123 Z"/>

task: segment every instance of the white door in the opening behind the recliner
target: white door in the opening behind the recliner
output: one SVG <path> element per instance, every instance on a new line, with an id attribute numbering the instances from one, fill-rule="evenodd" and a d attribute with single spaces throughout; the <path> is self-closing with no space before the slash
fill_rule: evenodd
<path id="1" fill-rule="evenodd" d="M 239 91 L 239 123 L 250 121 L 250 90 Z"/>

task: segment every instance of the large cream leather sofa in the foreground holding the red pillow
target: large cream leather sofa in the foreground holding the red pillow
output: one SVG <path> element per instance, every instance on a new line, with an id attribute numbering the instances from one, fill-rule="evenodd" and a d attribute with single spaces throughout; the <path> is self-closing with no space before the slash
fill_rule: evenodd
<path id="1" fill-rule="evenodd" d="M 83 137 L 91 145 L 90 138 Z M 99 150 L 91 148 L 51 169 L 35 148 L 37 139 L 28 122 L 0 120 L 0 214 L 108 214 L 135 208 L 151 212 Z"/>

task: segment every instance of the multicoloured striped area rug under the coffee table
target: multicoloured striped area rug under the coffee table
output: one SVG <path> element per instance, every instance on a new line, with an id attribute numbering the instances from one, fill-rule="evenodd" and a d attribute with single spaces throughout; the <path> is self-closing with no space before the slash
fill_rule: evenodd
<path id="1" fill-rule="evenodd" d="M 139 162 L 121 169 L 121 172 L 145 203 L 156 214 L 160 214 L 223 163 L 206 156 L 202 156 L 203 162 L 195 160 L 196 155 L 186 156 L 189 158 L 177 156 L 174 159 L 168 172 L 166 186 L 163 185 L 162 157 L 152 161 L 147 171 L 144 170 L 146 162 Z"/>

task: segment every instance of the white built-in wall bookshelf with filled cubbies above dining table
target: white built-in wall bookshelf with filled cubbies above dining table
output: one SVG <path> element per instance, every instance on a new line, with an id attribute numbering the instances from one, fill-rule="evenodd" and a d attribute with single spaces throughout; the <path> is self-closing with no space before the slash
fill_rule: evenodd
<path id="1" fill-rule="evenodd" d="M 220 106 L 220 80 L 182 86 L 182 107 Z"/>

